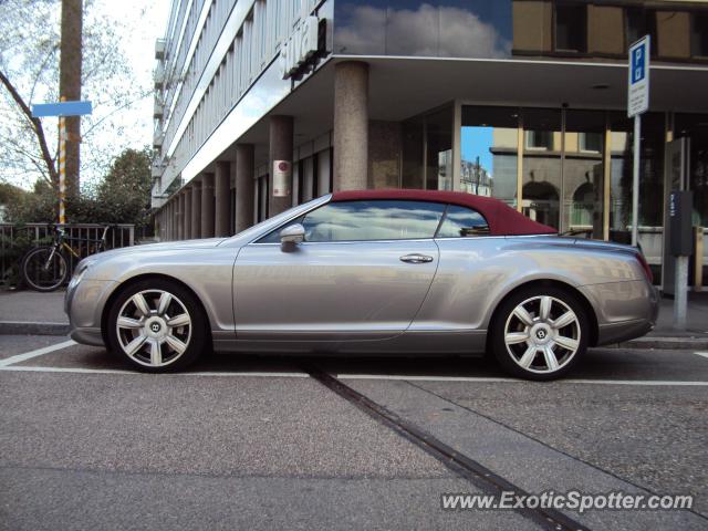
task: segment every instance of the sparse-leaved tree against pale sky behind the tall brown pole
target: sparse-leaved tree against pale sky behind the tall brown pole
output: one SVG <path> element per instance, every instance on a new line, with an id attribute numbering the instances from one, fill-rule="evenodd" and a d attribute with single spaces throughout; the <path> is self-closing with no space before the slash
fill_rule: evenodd
<path id="1" fill-rule="evenodd" d="M 56 119 L 32 118 L 31 105 L 59 101 L 60 7 L 60 0 L 0 0 L 0 180 L 27 186 L 41 178 L 58 188 Z M 116 129 L 119 111 L 152 93 L 147 81 L 136 83 L 122 52 L 131 31 L 85 2 L 81 84 L 94 112 L 82 117 L 82 175 L 105 170 L 118 140 L 103 133 Z"/>

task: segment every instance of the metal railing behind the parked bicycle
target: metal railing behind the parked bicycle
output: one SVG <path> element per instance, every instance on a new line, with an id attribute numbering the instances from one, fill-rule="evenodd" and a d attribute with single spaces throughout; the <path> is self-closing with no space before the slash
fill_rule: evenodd
<path id="1" fill-rule="evenodd" d="M 81 240 L 100 240 L 103 229 L 111 225 L 106 235 L 106 250 L 129 247 L 135 243 L 135 226 L 127 223 L 74 223 L 65 225 L 64 231 L 67 243 L 85 258 L 95 244 L 82 244 Z M 50 244 L 54 238 L 54 226 L 46 223 L 0 223 L 0 284 L 7 283 L 17 271 L 19 261 L 31 247 Z M 70 269 L 73 270 L 77 258 L 66 257 Z"/>

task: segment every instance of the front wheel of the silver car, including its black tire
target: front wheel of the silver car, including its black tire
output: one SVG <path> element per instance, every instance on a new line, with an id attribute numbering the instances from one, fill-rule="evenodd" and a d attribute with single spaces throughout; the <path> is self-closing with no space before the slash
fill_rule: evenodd
<path id="1" fill-rule="evenodd" d="M 162 293 L 169 293 L 171 302 L 160 314 Z M 134 302 L 137 294 L 143 296 L 150 311 L 146 316 Z M 188 315 L 188 325 L 170 326 L 169 320 Z M 118 326 L 118 317 L 140 321 L 142 326 Z M 191 365 L 210 345 L 208 320 L 197 298 L 186 288 L 165 279 L 146 279 L 125 288 L 113 301 L 106 320 L 105 336 L 108 340 L 108 348 L 112 353 L 125 360 L 132 367 L 147 373 L 169 373 L 183 371 Z M 139 336 L 145 341 L 137 346 L 136 352 L 128 353 L 127 348 L 133 341 L 138 344 Z M 171 336 L 169 340 L 167 336 Z M 174 348 L 175 341 L 186 345 L 179 353 Z M 156 365 L 153 357 L 154 343 L 159 344 L 160 363 Z M 155 358 L 157 356 L 155 355 Z"/>

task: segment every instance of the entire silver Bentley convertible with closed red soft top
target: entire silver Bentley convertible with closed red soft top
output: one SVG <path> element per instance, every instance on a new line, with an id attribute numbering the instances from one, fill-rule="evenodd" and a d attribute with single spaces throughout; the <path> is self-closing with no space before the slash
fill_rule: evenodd
<path id="1" fill-rule="evenodd" d="M 551 379 L 657 315 L 638 249 L 555 232 L 469 194 L 335 192 L 231 238 L 90 257 L 65 310 L 72 339 L 142 371 L 183 369 L 209 348 L 488 352 Z"/>

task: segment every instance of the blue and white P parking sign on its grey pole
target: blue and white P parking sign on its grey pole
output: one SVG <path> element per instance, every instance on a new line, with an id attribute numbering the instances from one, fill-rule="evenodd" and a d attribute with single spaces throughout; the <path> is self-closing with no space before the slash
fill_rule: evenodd
<path id="1" fill-rule="evenodd" d="M 634 117 L 634 166 L 632 171 L 632 244 L 639 237 L 639 149 L 642 147 L 642 114 L 649 108 L 650 38 L 645 35 L 629 46 L 627 72 L 627 116 Z"/>

